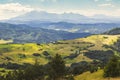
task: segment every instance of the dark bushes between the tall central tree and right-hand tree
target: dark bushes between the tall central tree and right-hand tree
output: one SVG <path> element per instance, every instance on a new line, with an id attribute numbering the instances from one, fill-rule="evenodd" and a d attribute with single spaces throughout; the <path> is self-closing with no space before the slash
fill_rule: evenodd
<path id="1" fill-rule="evenodd" d="M 73 63 L 69 70 L 73 75 L 79 75 L 86 71 L 90 71 L 91 73 L 96 72 L 98 68 L 101 68 L 101 62 L 93 60 L 93 62 L 82 61 L 79 63 Z"/>

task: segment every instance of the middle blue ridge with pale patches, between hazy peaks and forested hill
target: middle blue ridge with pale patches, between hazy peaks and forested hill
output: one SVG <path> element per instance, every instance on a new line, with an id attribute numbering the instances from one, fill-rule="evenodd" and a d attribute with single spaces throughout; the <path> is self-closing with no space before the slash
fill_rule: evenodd
<path id="1" fill-rule="evenodd" d="M 120 24 L 116 23 L 95 23 L 95 24 L 75 24 L 68 22 L 37 22 L 30 21 L 25 22 L 27 25 L 32 27 L 40 27 L 44 29 L 52 29 L 52 30 L 62 30 L 67 32 L 74 33 L 91 33 L 91 34 L 100 34 L 111 30 L 116 27 L 120 27 Z"/>

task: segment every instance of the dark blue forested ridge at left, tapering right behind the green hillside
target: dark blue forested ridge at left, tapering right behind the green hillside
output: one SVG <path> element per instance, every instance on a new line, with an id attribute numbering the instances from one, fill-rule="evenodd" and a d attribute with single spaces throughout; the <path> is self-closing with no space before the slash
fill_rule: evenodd
<path id="1" fill-rule="evenodd" d="M 14 43 L 46 43 L 57 40 L 75 39 L 90 35 L 89 33 L 70 33 L 65 31 L 54 31 L 28 25 L 14 25 L 0 23 L 0 38 Z"/>

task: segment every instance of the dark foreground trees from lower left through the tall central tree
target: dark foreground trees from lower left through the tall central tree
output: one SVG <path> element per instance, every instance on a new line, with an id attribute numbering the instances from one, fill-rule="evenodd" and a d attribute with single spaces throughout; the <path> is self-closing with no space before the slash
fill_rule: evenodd
<path id="1" fill-rule="evenodd" d="M 0 80 L 74 80 L 68 72 L 70 68 L 65 66 L 64 60 L 58 54 L 44 66 L 39 65 L 37 60 L 34 65 L 26 65 L 27 67 L 9 71 Z"/>

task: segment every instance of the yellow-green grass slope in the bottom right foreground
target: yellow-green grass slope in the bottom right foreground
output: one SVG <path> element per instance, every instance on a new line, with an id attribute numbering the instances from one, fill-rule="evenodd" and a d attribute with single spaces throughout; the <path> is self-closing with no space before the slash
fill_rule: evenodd
<path id="1" fill-rule="evenodd" d="M 94 73 L 85 72 L 81 75 L 75 76 L 75 80 L 120 80 L 120 78 L 104 78 L 103 70 L 98 70 Z"/>

